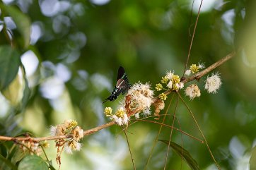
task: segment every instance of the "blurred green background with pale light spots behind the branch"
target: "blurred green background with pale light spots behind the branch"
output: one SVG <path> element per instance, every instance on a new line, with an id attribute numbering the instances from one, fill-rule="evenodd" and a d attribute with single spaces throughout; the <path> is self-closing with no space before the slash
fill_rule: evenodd
<path id="1" fill-rule="evenodd" d="M 149 82 L 152 89 L 166 71 L 181 76 L 200 1 L 4 0 L 1 4 L 20 9 L 30 19 L 31 32 L 30 46 L 20 47 L 30 98 L 17 110 L 16 102 L 0 95 L 0 134 L 30 131 L 39 137 L 50 135 L 50 126 L 66 119 L 78 121 L 85 130 L 107 123 L 105 107 L 117 107 L 122 98 L 102 104 L 115 87 L 119 66 L 125 68 L 130 83 Z M 197 83 L 202 93 L 198 99 L 191 101 L 181 92 L 222 169 L 249 169 L 256 142 L 255 7 L 253 0 L 203 1 L 189 64 L 210 66 L 239 51 L 216 69 L 223 83 L 218 93 L 206 93 L 206 77 Z M 17 23 L 8 15 L 1 20 L 17 47 L 22 46 Z M 6 44 L 2 32 L 0 43 Z M 170 96 L 165 103 L 169 101 Z M 173 114 L 175 102 L 168 114 Z M 182 102 L 176 116 L 180 121 L 176 127 L 201 138 Z M 136 169 L 144 169 L 159 127 L 146 122 L 129 127 Z M 205 145 L 174 132 L 173 141 L 183 145 L 201 169 L 216 169 Z M 164 128 L 160 138 L 168 140 L 169 135 L 170 128 Z M 148 169 L 163 169 L 166 151 L 167 145 L 158 142 Z M 57 168 L 54 142 L 46 152 Z M 62 154 L 61 169 L 133 169 L 122 129 L 112 126 L 86 136 L 81 152 Z M 170 150 L 167 169 L 190 168 Z"/>

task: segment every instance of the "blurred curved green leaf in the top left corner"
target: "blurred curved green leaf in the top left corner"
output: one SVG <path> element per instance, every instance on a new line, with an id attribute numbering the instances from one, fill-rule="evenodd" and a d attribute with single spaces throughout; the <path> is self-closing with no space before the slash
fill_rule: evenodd
<path id="1" fill-rule="evenodd" d="M 13 18 L 14 23 L 16 23 L 18 32 L 20 32 L 23 37 L 23 47 L 27 48 L 30 44 L 30 18 L 28 18 L 27 15 L 25 15 L 22 11 L 20 11 L 18 8 L 15 8 L 14 6 L 6 6 L 1 4 L 0 7 L 4 9 L 5 13 L 8 13 L 8 15 Z"/>

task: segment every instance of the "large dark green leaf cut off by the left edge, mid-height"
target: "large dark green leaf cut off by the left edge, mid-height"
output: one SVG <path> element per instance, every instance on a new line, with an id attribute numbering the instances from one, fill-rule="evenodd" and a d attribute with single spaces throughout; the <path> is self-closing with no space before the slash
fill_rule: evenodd
<path id="1" fill-rule="evenodd" d="M 0 47 L 0 90 L 4 90 L 16 78 L 21 63 L 19 56 L 11 46 Z"/>

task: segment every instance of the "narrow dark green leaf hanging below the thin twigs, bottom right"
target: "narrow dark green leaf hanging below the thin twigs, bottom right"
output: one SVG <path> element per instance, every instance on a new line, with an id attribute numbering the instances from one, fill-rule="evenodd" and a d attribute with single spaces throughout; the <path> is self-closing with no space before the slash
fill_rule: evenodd
<path id="1" fill-rule="evenodd" d="M 161 142 L 164 142 L 165 144 L 169 144 L 168 140 L 159 140 Z M 176 144 L 175 142 L 170 142 L 170 147 L 173 148 L 173 150 L 182 157 L 182 159 L 187 162 L 187 164 L 190 166 L 191 169 L 193 170 L 199 170 L 199 166 L 197 162 L 191 157 L 190 153 L 187 152 L 183 147 L 180 145 Z"/>

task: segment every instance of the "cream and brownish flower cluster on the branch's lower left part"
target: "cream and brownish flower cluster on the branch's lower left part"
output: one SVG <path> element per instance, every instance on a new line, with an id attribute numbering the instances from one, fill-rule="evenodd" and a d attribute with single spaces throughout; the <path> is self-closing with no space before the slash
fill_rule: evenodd
<path id="1" fill-rule="evenodd" d="M 68 154 L 72 154 L 72 150 L 79 151 L 81 150 L 82 144 L 78 141 L 83 138 L 83 129 L 80 126 L 77 126 L 76 121 L 67 120 L 64 123 L 57 126 L 51 126 L 50 128 L 51 135 L 68 135 L 70 138 L 64 140 L 59 139 L 55 140 L 56 146 L 63 147 L 64 151 Z M 58 153 L 59 154 L 59 153 Z"/>

